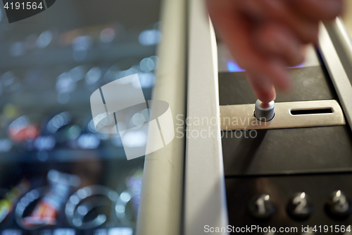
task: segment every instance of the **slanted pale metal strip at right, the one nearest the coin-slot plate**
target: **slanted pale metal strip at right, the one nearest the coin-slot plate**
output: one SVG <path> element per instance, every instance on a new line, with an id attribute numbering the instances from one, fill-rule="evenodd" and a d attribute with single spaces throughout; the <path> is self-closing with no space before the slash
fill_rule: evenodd
<path id="1" fill-rule="evenodd" d="M 334 47 L 334 43 L 327 32 L 327 28 L 323 24 L 320 24 L 318 47 L 339 96 L 346 120 L 352 129 L 352 85 Z"/>

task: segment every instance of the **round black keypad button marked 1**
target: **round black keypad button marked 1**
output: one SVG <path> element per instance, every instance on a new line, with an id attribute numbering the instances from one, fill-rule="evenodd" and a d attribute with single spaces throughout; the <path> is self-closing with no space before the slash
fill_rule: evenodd
<path id="1" fill-rule="evenodd" d="M 268 219 L 275 211 L 275 205 L 268 194 L 258 195 L 249 203 L 249 212 L 257 219 Z"/>

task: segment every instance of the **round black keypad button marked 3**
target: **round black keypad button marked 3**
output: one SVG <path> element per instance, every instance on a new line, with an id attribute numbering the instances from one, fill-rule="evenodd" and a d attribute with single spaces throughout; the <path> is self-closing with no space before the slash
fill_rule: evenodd
<path id="1" fill-rule="evenodd" d="M 325 210 L 334 219 L 345 219 L 351 214 L 351 202 L 341 190 L 334 191 L 327 200 Z"/>

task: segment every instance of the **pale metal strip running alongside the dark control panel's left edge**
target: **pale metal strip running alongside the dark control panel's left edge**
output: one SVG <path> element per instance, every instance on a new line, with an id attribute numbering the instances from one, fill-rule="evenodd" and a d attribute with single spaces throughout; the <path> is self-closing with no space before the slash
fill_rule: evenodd
<path id="1" fill-rule="evenodd" d="M 185 235 L 204 234 L 206 226 L 225 228 L 228 224 L 220 138 L 217 48 L 205 3 L 203 0 L 189 1 Z M 209 124 L 201 121 L 194 125 L 192 120 L 196 119 L 207 119 Z M 202 136 L 206 133 L 205 138 L 202 133 Z M 226 229 L 223 230 L 218 234 L 228 234 Z"/>

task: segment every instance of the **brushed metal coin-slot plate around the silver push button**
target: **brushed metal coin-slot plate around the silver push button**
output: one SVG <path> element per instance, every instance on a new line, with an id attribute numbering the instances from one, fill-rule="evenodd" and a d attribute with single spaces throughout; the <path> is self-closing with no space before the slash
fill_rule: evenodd
<path id="1" fill-rule="evenodd" d="M 301 128 L 345 125 L 344 114 L 336 100 L 314 100 L 275 103 L 271 121 L 258 121 L 253 115 L 255 104 L 220 105 L 222 131 Z M 292 115 L 291 110 L 332 109 L 326 114 Z"/>

